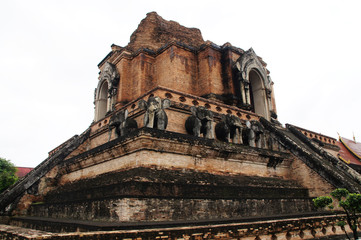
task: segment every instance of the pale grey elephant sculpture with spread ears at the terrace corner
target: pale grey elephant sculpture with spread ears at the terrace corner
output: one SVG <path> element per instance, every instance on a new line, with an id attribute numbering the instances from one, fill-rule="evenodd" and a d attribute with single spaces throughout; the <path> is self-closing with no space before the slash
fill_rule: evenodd
<path id="1" fill-rule="evenodd" d="M 140 100 L 139 108 L 146 110 L 144 115 L 144 126 L 165 130 L 168 125 L 168 117 L 164 109 L 170 107 L 170 100 L 162 100 L 160 97 L 150 97 L 148 101 Z"/>

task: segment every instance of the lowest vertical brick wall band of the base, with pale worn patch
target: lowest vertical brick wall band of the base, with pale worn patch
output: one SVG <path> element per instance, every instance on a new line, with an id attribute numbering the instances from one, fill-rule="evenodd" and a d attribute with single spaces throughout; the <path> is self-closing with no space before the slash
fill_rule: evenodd
<path id="1" fill-rule="evenodd" d="M 30 216 L 108 222 L 191 221 L 266 217 L 291 213 L 290 209 L 293 213 L 312 210 L 311 199 L 164 199 L 150 196 L 38 204 L 31 208 Z"/>

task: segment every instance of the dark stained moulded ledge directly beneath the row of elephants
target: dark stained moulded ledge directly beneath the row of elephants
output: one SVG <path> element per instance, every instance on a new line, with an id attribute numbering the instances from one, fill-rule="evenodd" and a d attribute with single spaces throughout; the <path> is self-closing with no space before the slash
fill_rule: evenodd
<path id="1" fill-rule="evenodd" d="M 136 141 L 146 141 L 148 144 L 144 145 L 136 145 L 134 142 Z M 167 148 L 161 146 L 155 146 L 157 142 L 167 142 L 169 145 L 174 145 L 174 149 Z M 152 143 L 153 145 L 149 147 L 148 145 Z M 182 145 L 186 144 L 187 149 L 192 149 L 192 153 L 183 151 L 177 151 L 177 146 L 175 145 Z M 133 145 L 131 148 L 130 145 Z M 205 139 L 194 137 L 188 134 L 181 134 L 176 132 L 169 132 L 164 130 L 158 130 L 153 128 L 140 128 L 136 129 L 132 132 L 129 132 L 126 136 L 119 137 L 115 140 L 107 142 L 103 145 L 95 147 L 89 151 L 86 151 L 82 154 L 79 154 L 75 157 L 70 159 L 66 159 L 63 162 L 63 167 L 68 168 L 70 170 L 69 165 L 77 165 L 77 162 L 82 161 L 87 158 L 94 158 L 94 156 L 101 154 L 102 152 L 109 151 L 114 148 L 119 148 L 118 150 L 121 152 L 117 152 L 116 156 L 122 156 L 129 154 L 131 152 L 140 151 L 140 150 L 149 150 L 149 151 L 157 151 L 157 152 L 170 152 L 182 155 L 192 155 L 192 156 L 202 156 L 205 152 L 211 151 L 213 155 L 210 155 L 210 152 L 207 152 L 207 157 L 220 157 L 220 158 L 231 158 L 230 154 L 250 154 L 250 155 L 257 155 L 262 157 L 278 157 L 283 159 L 288 159 L 290 157 L 289 153 L 273 151 L 268 149 L 261 149 L 261 148 L 253 148 L 242 144 L 232 144 L 232 143 L 224 143 L 219 140 L 214 139 Z M 203 154 L 202 154 L 203 153 Z M 119 155 L 120 154 L 120 155 Z M 112 154 L 109 154 L 111 156 Z M 102 161 L 106 161 L 103 159 Z M 94 164 L 94 163 L 93 163 Z M 78 166 L 84 168 L 85 166 Z M 74 171 L 73 169 L 72 171 Z"/>

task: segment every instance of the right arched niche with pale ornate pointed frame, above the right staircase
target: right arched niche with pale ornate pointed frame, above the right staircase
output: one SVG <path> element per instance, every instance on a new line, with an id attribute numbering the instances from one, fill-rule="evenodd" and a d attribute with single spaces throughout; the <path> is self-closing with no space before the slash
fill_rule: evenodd
<path id="1" fill-rule="evenodd" d="M 270 120 L 271 84 L 265 67 L 253 49 L 246 51 L 235 63 L 243 106 Z"/>

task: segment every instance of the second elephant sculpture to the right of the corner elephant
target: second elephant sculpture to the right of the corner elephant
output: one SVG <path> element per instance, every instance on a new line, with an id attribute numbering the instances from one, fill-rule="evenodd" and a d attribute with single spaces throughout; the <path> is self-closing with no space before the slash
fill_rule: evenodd
<path id="1" fill-rule="evenodd" d="M 219 140 L 224 142 L 242 144 L 242 122 L 241 119 L 235 115 L 222 115 L 222 121 L 216 124 L 216 136 Z"/>

